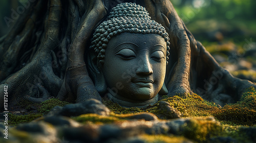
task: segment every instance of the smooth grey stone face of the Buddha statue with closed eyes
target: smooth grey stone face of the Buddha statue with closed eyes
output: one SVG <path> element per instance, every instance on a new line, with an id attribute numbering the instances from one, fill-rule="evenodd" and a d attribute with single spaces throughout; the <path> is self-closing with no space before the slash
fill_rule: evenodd
<path id="1" fill-rule="evenodd" d="M 113 96 L 145 101 L 154 98 L 164 83 L 166 42 L 157 34 L 121 33 L 106 46 L 100 67 Z"/>

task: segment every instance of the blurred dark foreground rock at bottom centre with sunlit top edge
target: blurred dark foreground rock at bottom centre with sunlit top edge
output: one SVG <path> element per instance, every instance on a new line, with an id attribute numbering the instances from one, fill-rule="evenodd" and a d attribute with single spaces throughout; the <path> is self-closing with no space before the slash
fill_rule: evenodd
<path id="1" fill-rule="evenodd" d="M 129 139 L 141 134 L 153 125 L 149 121 L 124 121 L 122 123 L 60 128 L 63 137 L 69 141 L 108 142 L 113 139 Z"/>

